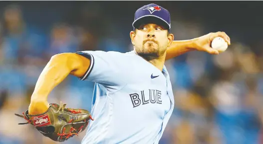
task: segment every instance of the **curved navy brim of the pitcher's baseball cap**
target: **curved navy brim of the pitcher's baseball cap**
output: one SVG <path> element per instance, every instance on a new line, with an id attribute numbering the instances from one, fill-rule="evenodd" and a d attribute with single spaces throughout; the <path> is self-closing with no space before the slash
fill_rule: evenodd
<path id="1" fill-rule="evenodd" d="M 144 16 L 136 19 L 132 23 L 132 26 L 134 28 L 138 28 L 143 23 L 156 23 L 158 25 L 162 25 L 162 26 L 166 27 L 168 30 L 171 28 L 171 25 L 169 23 L 167 23 L 164 19 L 162 19 L 161 17 L 156 16 L 156 15 L 144 15 Z"/>

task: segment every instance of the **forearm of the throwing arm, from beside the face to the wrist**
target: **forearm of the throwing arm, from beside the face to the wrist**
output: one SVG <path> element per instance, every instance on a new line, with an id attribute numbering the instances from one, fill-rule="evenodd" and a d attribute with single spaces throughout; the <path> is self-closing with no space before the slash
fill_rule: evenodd
<path id="1" fill-rule="evenodd" d="M 187 52 L 194 51 L 193 47 L 194 47 L 194 39 L 173 41 L 172 45 L 167 49 L 165 60 L 169 60 L 174 57 L 185 54 Z"/>

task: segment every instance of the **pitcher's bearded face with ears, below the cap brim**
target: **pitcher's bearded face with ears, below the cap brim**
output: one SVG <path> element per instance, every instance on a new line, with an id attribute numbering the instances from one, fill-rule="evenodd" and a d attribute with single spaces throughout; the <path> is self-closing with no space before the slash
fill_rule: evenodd
<path id="1" fill-rule="evenodd" d="M 130 37 L 137 54 L 152 59 L 163 56 L 174 39 L 163 26 L 151 23 L 142 24 Z"/>

